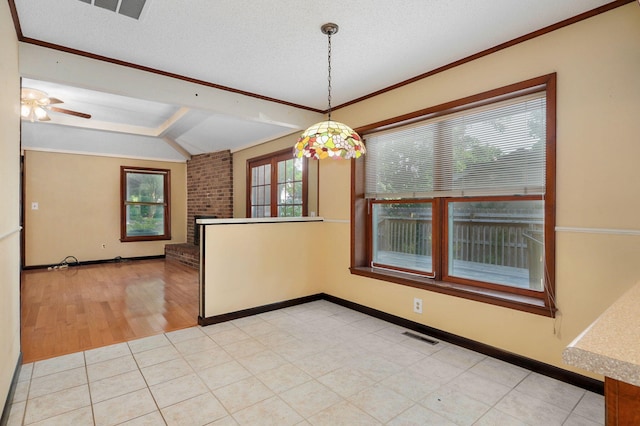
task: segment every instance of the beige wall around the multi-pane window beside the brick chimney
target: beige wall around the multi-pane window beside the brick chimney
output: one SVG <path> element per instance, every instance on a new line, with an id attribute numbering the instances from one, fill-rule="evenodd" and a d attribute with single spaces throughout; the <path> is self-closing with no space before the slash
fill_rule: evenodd
<path id="1" fill-rule="evenodd" d="M 282 149 L 291 149 L 293 156 L 293 145 L 298 140 L 299 133 L 294 133 L 276 139 L 272 142 L 257 145 L 249 149 L 237 151 L 233 153 L 233 217 L 241 218 L 247 216 L 247 160 L 259 157 L 264 154 L 270 154 Z M 309 161 L 309 215 L 311 212 L 318 214 L 318 164 L 315 161 Z"/>

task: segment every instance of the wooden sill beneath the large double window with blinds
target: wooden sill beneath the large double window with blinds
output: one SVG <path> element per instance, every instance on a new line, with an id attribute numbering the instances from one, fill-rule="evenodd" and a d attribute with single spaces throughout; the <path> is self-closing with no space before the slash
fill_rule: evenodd
<path id="1" fill-rule="evenodd" d="M 456 284 L 444 281 L 436 281 L 431 278 L 421 277 L 402 272 L 390 271 L 369 267 L 350 268 L 353 275 L 388 281 L 396 284 L 420 288 L 450 296 L 462 297 L 491 305 L 516 309 L 546 317 L 555 317 L 556 309 L 545 306 L 544 301 L 534 297 L 522 296 L 498 290 L 488 290 L 472 287 L 464 284 Z"/>

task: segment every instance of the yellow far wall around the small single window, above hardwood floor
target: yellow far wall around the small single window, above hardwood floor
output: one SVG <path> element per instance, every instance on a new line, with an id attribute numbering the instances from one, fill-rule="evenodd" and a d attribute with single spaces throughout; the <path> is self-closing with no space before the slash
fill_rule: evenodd
<path id="1" fill-rule="evenodd" d="M 171 170 L 171 241 L 120 242 L 120 166 Z M 186 241 L 186 188 L 186 163 L 25 151 L 25 264 L 163 255 Z"/>

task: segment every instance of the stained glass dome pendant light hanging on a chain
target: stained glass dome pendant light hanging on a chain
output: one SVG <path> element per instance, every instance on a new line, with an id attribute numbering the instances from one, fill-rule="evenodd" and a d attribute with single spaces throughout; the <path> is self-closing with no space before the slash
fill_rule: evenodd
<path id="1" fill-rule="evenodd" d="M 329 39 L 329 108 L 327 121 L 321 121 L 309 127 L 298 139 L 293 148 L 297 158 L 307 157 L 321 160 L 324 158 L 359 158 L 366 152 L 360 136 L 346 124 L 331 120 L 331 36 L 338 32 L 336 24 L 324 24 L 320 30 Z"/>

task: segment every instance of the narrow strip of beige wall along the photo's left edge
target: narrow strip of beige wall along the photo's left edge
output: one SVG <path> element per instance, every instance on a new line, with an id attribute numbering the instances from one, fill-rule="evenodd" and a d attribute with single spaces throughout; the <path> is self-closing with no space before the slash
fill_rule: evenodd
<path id="1" fill-rule="evenodd" d="M 0 407 L 20 355 L 20 78 L 9 5 L 0 2 Z"/>

